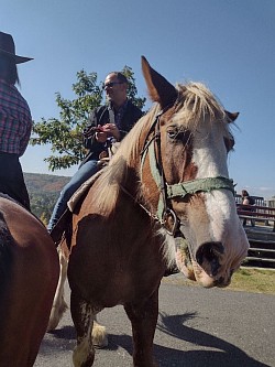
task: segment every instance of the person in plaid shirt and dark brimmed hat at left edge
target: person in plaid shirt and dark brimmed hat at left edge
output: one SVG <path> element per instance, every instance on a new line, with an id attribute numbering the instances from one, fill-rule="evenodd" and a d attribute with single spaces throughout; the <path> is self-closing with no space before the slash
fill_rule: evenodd
<path id="1" fill-rule="evenodd" d="M 32 117 L 15 84 L 20 84 L 16 64 L 30 60 L 18 56 L 12 36 L 0 32 L 0 192 L 29 211 L 30 198 L 19 158 L 30 140 Z"/>

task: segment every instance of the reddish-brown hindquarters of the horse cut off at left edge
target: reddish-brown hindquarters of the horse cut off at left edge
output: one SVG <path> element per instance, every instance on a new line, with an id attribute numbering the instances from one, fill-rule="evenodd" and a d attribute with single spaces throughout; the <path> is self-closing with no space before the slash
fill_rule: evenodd
<path id="1" fill-rule="evenodd" d="M 0 197 L 0 366 L 31 367 L 46 332 L 59 266 L 46 228 Z"/>

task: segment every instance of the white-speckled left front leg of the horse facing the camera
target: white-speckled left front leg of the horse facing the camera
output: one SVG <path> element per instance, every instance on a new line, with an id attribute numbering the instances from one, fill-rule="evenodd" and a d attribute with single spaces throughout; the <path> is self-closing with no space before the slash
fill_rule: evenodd
<path id="1" fill-rule="evenodd" d="M 75 367 L 90 367 L 95 359 L 91 328 L 95 319 L 92 307 L 75 292 L 70 293 L 70 313 L 77 334 L 77 346 L 73 354 Z"/>

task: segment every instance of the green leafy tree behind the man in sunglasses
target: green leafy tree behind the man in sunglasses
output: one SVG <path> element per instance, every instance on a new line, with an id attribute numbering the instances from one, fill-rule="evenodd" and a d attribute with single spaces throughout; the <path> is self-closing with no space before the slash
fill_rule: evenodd
<path id="1" fill-rule="evenodd" d="M 122 73 L 129 80 L 128 97 L 141 109 L 146 98 L 138 97 L 134 73 L 131 67 L 124 66 Z M 76 75 L 77 82 L 73 84 L 75 99 L 65 99 L 56 93 L 56 104 L 59 108 L 59 118 L 42 118 L 33 123 L 32 145 L 51 144 L 52 154 L 44 159 L 51 171 L 68 169 L 78 164 L 85 156 L 81 131 L 92 109 L 99 107 L 103 100 L 103 83 L 98 83 L 97 73 L 87 74 L 80 71 Z"/>

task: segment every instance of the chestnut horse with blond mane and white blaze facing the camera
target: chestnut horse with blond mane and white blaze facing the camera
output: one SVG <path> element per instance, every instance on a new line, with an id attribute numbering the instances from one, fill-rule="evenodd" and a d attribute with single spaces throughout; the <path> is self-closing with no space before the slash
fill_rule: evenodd
<path id="1" fill-rule="evenodd" d="M 156 104 L 73 215 L 68 281 L 77 367 L 94 364 L 95 315 L 118 304 L 132 324 L 133 365 L 155 366 L 165 270 L 176 262 L 202 287 L 227 287 L 249 248 L 227 165 L 238 114 L 199 83 L 174 87 L 144 57 L 142 68 Z"/>

